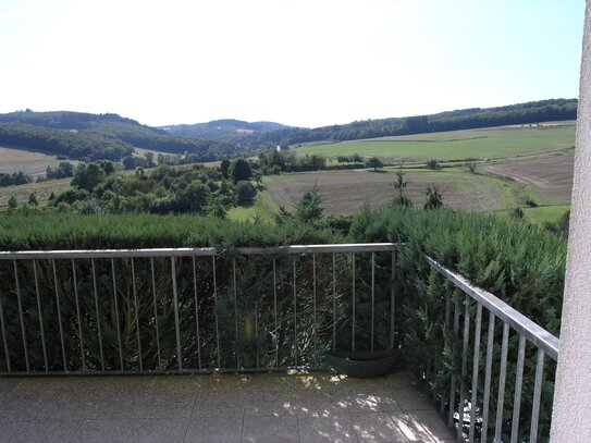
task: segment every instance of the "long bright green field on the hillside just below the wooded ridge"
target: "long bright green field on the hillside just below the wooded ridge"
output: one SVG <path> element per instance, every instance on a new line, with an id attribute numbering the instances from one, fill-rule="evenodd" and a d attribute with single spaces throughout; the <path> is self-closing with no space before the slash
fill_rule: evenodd
<path id="1" fill-rule="evenodd" d="M 495 159 L 555 151 L 575 146 L 575 122 L 540 127 L 502 126 L 481 130 L 368 138 L 350 141 L 303 144 L 297 155 L 319 153 L 327 157 L 380 156 L 386 160 L 464 160 Z"/>

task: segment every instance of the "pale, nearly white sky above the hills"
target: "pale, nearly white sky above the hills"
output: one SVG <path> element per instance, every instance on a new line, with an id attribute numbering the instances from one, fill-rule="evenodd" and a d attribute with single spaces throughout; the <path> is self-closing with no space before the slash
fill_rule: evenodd
<path id="1" fill-rule="evenodd" d="M 0 0 L 0 112 L 316 127 L 578 96 L 583 0 Z"/>

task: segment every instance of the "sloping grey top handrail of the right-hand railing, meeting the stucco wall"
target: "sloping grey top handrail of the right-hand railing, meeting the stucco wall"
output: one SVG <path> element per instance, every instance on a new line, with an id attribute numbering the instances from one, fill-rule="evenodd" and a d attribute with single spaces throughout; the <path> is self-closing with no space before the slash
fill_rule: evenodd
<path id="1" fill-rule="evenodd" d="M 559 339 L 540 327 L 538 323 L 528 319 L 518 310 L 512 308 L 494 294 L 472 285 L 467 279 L 445 268 L 431 257 L 424 255 L 424 259 L 433 269 L 450 280 L 464 293 L 482 304 L 482 306 L 484 306 L 489 311 L 493 312 L 497 318 L 506 322 L 510 328 L 542 349 L 544 354 L 554 361 L 557 360 L 558 347 L 561 344 Z"/>

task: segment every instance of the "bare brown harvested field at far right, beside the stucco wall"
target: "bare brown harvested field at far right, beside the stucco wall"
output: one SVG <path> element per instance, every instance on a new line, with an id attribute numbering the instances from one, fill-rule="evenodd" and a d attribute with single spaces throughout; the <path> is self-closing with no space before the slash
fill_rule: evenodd
<path id="1" fill-rule="evenodd" d="M 574 160 L 572 156 L 549 156 L 500 162 L 483 169 L 529 186 L 546 205 L 563 205 L 570 202 Z"/>

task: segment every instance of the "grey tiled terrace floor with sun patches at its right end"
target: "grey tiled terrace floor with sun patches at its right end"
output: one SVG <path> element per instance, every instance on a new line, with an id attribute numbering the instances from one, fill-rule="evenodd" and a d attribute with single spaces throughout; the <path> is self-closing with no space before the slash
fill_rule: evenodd
<path id="1" fill-rule="evenodd" d="M 408 372 L 0 378 L 0 442 L 453 442 Z"/>

